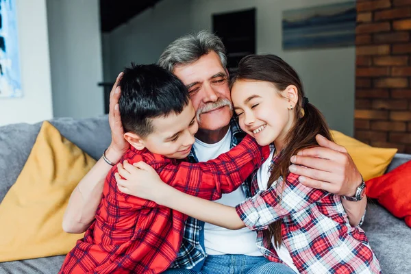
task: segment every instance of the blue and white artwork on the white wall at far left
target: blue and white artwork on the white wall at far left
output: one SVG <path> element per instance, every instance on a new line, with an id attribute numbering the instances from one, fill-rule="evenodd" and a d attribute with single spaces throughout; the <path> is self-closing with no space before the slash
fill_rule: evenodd
<path id="1" fill-rule="evenodd" d="M 16 0 L 0 0 L 0 97 L 21 97 Z"/>

